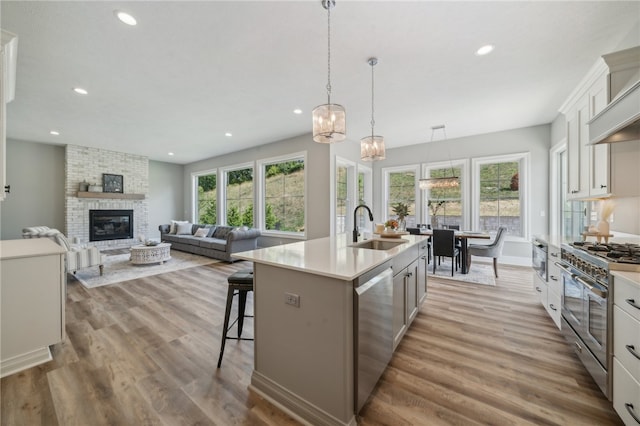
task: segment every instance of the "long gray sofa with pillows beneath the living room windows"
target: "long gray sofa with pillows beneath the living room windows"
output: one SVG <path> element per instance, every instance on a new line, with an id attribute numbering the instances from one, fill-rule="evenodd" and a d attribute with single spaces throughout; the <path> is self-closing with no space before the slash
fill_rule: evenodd
<path id="1" fill-rule="evenodd" d="M 171 248 L 199 254 L 213 259 L 233 262 L 231 255 L 254 250 L 258 244 L 260 230 L 225 225 L 203 225 L 173 221 L 160 225 L 160 240 L 170 243 Z"/>

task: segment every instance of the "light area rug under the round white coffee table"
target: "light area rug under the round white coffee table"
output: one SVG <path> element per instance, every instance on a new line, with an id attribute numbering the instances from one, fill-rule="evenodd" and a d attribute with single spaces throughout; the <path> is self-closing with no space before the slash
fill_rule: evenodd
<path id="1" fill-rule="evenodd" d="M 75 277 L 87 288 L 100 287 L 107 284 L 119 283 L 136 278 L 149 277 L 165 272 L 178 271 L 193 266 L 208 265 L 219 262 L 205 256 L 171 250 L 171 259 L 162 265 L 134 265 L 129 260 L 129 253 L 108 255 L 104 264 L 104 275 L 100 276 L 98 267 L 83 269 L 76 272 Z"/>

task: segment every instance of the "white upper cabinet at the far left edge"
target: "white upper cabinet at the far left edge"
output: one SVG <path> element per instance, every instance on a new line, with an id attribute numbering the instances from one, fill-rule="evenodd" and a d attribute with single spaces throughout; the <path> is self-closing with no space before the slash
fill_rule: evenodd
<path id="1" fill-rule="evenodd" d="M 0 201 L 8 192 L 6 153 L 7 153 L 7 103 L 15 94 L 16 59 L 18 37 L 2 30 L 0 38 Z"/>

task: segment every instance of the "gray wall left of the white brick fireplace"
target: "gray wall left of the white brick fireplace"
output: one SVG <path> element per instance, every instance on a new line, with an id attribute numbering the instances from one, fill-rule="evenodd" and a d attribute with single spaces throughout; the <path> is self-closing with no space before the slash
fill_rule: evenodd
<path id="1" fill-rule="evenodd" d="M 27 226 L 64 230 L 64 146 L 7 140 L 7 182 L 0 239 L 22 238 Z"/>

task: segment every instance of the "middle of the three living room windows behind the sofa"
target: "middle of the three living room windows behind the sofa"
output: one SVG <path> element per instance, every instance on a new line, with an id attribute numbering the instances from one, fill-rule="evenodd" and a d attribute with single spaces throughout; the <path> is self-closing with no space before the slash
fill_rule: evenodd
<path id="1" fill-rule="evenodd" d="M 224 171 L 225 220 L 230 226 L 253 226 L 253 167 Z"/>

